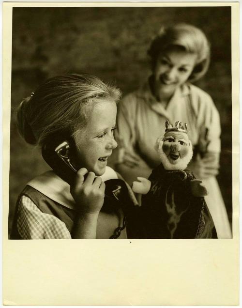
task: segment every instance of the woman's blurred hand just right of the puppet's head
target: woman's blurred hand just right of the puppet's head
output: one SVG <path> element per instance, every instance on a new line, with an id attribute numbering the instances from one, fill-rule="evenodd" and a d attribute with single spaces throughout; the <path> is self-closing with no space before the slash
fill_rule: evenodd
<path id="1" fill-rule="evenodd" d="M 218 174 L 219 154 L 206 153 L 203 158 L 199 154 L 193 160 L 188 168 L 190 168 L 197 179 L 207 179 Z"/>

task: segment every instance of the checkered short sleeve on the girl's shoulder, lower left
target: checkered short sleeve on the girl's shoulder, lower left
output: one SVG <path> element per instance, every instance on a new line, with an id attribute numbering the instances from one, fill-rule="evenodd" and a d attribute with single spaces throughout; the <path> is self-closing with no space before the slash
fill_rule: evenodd
<path id="1" fill-rule="evenodd" d="M 27 196 L 18 206 L 17 229 L 22 239 L 71 239 L 66 225 L 57 217 L 42 213 Z"/>

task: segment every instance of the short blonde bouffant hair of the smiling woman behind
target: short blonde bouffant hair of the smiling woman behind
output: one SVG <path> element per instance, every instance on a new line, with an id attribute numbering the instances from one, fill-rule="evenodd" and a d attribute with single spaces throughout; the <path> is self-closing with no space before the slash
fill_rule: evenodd
<path id="1" fill-rule="evenodd" d="M 174 47 L 181 47 L 185 51 L 197 55 L 196 64 L 188 78 L 189 81 L 196 81 L 206 74 L 210 63 L 210 44 L 200 29 L 185 23 L 160 29 L 148 50 L 152 69 L 154 69 L 160 53 Z"/>

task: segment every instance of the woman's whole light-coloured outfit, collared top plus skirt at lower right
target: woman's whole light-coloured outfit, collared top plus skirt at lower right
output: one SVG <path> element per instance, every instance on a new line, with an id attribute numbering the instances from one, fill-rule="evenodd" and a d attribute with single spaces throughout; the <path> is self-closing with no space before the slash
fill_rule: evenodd
<path id="1" fill-rule="evenodd" d="M 204 146 L 204 134 L 207 129 L 207 151 L 220 153 L 220 117 L 208 93 L 186 83 L 175 91 L 165 108 L 152 95 L 147 83 L 141 89 L 126 95 L 118 105 L 118 129 L 115 138 L 118 142 L 119 164 L 125 166 L 125 174 L 121 175 L 128 183 L 135 181 L 137 176 L 144 176 L 140 174 L 142 170 L 147 169 L 149 173 L 160 164 L 154 145 L 156 139 L 165 132 L 166 120 L 173 125 L 176 121 L 187 123 L 188 137 L 193 146 Z M 122 162 L 122 154 L 125 152 L 139 156 L 136 168 Z M 231 238 L 227 211 L 216 178 L 204 179 L 203 185 L 209 192 L 205 200 L 218 237 Z"/>

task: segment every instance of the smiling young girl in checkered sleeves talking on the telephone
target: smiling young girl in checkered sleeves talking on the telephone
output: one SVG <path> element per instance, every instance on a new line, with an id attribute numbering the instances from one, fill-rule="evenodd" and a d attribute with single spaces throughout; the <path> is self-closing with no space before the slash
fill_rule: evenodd
<path id="1" fill-rule="evenodd" d="M 42 150 L 56 140 L 69 140 L 66 152 L 54 161 L 58 165 L 63 158 L 79 170 L 71 186 L 53 170 L 26 185 L 17 202 L 12 239 L 127 237 L 121 201 L 113 190 L 106 197 L 104 183 L 118 178 L 106 164 L 117 147 L 113 131 L 120 96 L 119 89 L 97 77 L 70 74 L 47 80 L 20 104 L 17 124 L 22 137 Z M 127 190 L 121 186 L 116 190 Z"/>

